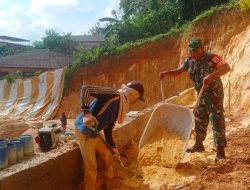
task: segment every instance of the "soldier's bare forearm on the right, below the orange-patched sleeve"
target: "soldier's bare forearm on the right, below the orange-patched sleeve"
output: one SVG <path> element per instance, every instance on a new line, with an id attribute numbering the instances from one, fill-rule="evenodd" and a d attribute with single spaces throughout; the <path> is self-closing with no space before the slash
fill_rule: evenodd
<path id="1" fill-rule="evenodd" d="M 203 86 L 209 85 L 214 79 L 227 74 L 230 70 L 231 70 L 231 68 L 228 65 L 228 63 L 224 63 L 224 64 L 218 66 L 217 69 L 213 73 L 207 75 L 203 79 Z"/>

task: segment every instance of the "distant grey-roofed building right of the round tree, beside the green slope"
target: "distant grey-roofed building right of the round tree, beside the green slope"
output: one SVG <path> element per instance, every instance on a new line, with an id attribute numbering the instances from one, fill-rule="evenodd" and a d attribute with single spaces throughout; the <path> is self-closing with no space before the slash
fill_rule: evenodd
<path id="1" fill-rule="evenodd" d="M 71 38 L 76 43 L 76 50 L 80 50 L 81 46 L 92 49 L 105 42 L 104 37 L 100 35 L 71 35 Z"/>

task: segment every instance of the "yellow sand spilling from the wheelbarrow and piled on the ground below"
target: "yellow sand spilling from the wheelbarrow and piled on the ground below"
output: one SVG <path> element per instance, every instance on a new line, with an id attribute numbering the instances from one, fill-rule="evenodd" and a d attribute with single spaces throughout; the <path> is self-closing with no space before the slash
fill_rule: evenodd
<path id="1" fill-rule="evenodd" d="M 204 162 L 199 159 L 200 163 L 194 165 L 186 156 L 183 163 L 177 164 L 184 145 L 178 134 L 164 128 L 159 128 L 141 149 L 137 141 L 130 141 L 121 150 L 127 168 L 115 165 L 115 178 L 107 182 L 108 189 L 168 189 L 193 180 L 204 170 Z"/>

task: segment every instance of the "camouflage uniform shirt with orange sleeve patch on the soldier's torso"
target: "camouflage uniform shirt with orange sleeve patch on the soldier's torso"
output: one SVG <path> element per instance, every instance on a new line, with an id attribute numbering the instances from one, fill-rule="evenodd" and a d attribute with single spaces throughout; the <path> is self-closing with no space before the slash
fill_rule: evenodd
<path id="1" fill-rule="evenodd" d="M 200 60 L 189 57 L 183 62 L 184 69 L 188 72 L 197 92 L 203 85 L 203 78 L 213 73 L 221 64 L 225 64 L 223 59 L 212 53 L 204 53 Z M 214 79 L 205 91 L 223 96 L 223 85 L 220 77 Z"/>

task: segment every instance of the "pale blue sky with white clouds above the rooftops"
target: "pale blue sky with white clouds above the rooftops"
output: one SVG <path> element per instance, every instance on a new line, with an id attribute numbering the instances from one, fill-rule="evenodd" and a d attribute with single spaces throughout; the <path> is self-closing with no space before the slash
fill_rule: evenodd
<path id="1" fill-rule="evenodd" d="M 0 35 L 41 40 L 46 29 L 84 34 L 120 0 L 0 0 Z"/>

